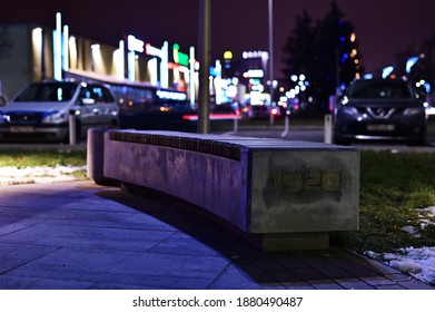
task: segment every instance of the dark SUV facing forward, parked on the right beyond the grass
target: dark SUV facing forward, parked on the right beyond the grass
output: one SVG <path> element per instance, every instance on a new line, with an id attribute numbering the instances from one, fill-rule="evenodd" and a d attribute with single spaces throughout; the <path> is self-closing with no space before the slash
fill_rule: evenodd
<path id="1" fill-rule="evenodd" d="M 334 108 L 334 143 L 353 140 L 426 142 L 426 114 L 422 99 L 402 79 L 353 81 Z"/>

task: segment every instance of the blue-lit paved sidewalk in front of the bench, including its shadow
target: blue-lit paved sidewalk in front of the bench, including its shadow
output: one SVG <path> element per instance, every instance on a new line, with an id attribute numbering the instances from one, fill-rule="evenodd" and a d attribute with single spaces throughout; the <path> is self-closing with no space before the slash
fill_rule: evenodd
<path id="1" fill-rule="evenodd" d="M 1 186 L 0 290 L 433 290 L 342 247 L 269 253 L 170 198 Z"/>

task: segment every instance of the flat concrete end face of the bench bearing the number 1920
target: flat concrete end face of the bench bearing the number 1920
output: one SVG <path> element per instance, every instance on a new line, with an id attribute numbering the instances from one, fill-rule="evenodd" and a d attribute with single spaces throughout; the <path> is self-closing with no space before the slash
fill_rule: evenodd
<path id="1" fill-rule="evenodd" d="M 359 154 L 319 144 L 256 150 L 251 158 L 254 233 L 358 228 Z"/>

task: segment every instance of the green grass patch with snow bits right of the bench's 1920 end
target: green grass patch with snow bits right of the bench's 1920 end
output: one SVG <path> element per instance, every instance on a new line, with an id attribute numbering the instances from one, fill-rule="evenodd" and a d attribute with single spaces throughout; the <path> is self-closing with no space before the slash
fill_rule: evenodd
<path id="1" fill-rule="evenodd" d="M 360 155 L 360 230 L 339 242 L 359 253 L 434 246 L 435 218 L 425 208 L 435 206 L 435 154 Z"/>

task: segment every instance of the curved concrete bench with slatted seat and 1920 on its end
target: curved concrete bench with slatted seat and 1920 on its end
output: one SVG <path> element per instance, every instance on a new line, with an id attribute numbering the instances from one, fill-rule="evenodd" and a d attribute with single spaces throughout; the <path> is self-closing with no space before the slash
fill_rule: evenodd
<path id="1" fill-rule="evenodd" d="M 88 133 L 88 176 L 190 202 L 265 250 L 327 248 L 359 224 L 353 147 L 175 131 Z"/>

